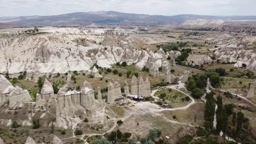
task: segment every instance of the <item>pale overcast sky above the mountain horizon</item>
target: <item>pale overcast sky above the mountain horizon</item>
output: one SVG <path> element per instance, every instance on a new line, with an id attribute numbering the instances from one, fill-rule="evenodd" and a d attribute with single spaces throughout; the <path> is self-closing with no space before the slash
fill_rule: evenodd
<path id="1" fill-rule="evenodd" d="M 120 11 L 152 15 L 256 15 L 256 0 L 0 0 L 0 16 Z"/>

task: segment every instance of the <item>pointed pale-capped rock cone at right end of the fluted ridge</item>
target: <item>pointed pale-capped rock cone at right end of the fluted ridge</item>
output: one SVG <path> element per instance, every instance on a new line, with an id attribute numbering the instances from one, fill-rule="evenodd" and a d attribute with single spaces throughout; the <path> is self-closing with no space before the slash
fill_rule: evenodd
<path id="1" fill-rule="evenodd" d="M 83 88 L 81 89 L 81 105 L 90 108 L 94 103 L 94 89 L 88 81 L 84 81 Z"/>

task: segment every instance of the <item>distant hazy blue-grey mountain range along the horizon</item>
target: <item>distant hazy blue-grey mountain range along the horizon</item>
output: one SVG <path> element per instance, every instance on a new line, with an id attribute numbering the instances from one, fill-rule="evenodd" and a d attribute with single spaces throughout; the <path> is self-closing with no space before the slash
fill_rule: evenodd
<path id="1" fill-rule="evenodd" d="M 74 26 L 74 25 L 124 25 L 145 26 L 183 23 L 186 20 L 256 20 L 256 16 L 209 16 L 209 15 L 145 15 L 119 13 L 117 11 L 97 11 L 70 13 L 51 16 L 0 17 L 0 23 L 9 26 Z M 3 24 L 4 23 L 4 24 Z M 1 27 L 1 25 L 0 25 Z"/>

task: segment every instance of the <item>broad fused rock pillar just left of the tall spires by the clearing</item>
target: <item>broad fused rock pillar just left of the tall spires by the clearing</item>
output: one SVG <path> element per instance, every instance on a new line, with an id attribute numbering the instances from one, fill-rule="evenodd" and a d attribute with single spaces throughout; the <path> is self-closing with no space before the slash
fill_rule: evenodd
<path id="1" fill-rule="evenodd" d="M 121 97 L 121 87 L 120 84 L 115 81 L 114 84 L 111 82 L 108 85 L 108 103 L 114 104 L 115 99 Z"/>

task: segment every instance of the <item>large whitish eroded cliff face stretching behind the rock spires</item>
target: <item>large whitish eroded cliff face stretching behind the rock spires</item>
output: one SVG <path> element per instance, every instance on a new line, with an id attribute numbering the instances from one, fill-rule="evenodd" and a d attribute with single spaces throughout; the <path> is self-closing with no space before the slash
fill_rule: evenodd
<path id="1" fill-rule="evenodd" d="M 131 36 L 122 32 L 107 29 L 97 30 L 100 32 L 95 30 L 95 33 L 78 28 L 42 29 L 52 34 L 0 40 L 1 51 L 5 51 L 0 52 L 0 73 L 13 75 L 27 71 L 27 79 L 36 80 L 40 74 L 88 71 L 94 63 L 110 68 L 111 64 L 125 61 L 128 65 L 135 63 L 138 68 L 144 65 L 150 68 L 157 62 L 158 67 L 161 67 L 161 59 L 166 57 L 161 49 L 156 53 L 135 49 Z M 105 35 L 99 36 L 98 33 Z M 85 39 L 86 45 L 80 44 L 81 39 Z M 92 49 L 98 52 L 88 53 Z M 179 54 L 176 52 L 174 57 Z"/>

